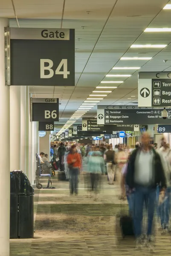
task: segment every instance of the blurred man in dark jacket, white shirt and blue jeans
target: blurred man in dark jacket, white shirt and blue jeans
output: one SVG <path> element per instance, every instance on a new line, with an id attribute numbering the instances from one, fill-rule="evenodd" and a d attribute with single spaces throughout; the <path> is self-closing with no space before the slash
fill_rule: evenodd
<path id="1" fill-rule="evenodd" d="M 166 187 L 165 173 L 159 154 L 151 147 L 148 133 L 142 134 L 142 146 L 136 148 L 130 155 L 126 183 L 134 189 L 134 230 L 136 247 L 142 244 L 142 219 L 143 205 L 148 208 L 148 230 L 145 242 L 150 242 L 153 237 L 152 224 L 156 204 L 156 188 L 161 185 L 161 191 Z"/>

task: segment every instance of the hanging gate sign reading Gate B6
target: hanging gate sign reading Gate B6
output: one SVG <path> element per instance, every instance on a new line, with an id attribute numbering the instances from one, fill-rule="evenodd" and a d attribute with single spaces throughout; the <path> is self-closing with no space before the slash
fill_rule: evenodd
<path id="1" fill-rule="evenodd" d="M 30 98 L 31 121 L 58 122 L 59 99 Z"/>

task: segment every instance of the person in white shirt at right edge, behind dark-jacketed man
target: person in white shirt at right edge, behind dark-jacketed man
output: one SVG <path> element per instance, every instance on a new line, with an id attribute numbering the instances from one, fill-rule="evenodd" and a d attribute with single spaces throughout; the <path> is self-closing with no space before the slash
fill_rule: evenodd
<path id="1" fill-rule="evenodd" d="M 171 149 L 170 145 L 166 144 L 165 138 L 162 138 L 161 148 L 158 153 L 162 160 L 162 165 L 165 171 L 167 188 L 165 190 L 165 197 L 160 200 L 159 198 L 159 207 L 158 212 L 161 219 L 162 229 L 168 230 L 169 224 L 169 215 L 170 215 L 170 205 L 171 205 Z M 159 193 L 158 193 L 159 196 Z"/>

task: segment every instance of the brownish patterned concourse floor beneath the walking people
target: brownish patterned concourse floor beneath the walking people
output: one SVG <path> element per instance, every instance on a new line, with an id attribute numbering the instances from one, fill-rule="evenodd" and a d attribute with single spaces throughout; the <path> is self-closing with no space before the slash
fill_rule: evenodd
<path id="1" fill-rule="evenodd" d="M 149 249 L 135 250 L 135 242 L 118 242 L 118 218 L 127 212 L 127 202 L 119 201 L 119 189 L 103 186 L 97 201 L 87 198 L 83 175 L 78 196 L 70 197 L 69 183 L 53 177 L 53 190 L 35 189 L 35 238 L 11 240 L 10 256 L 120 256 L 150 255 Z M 43 182 L 45 185 L 46 183 Z M 171 254 L 171 241 L 156 229 L 156 254 Z"/>

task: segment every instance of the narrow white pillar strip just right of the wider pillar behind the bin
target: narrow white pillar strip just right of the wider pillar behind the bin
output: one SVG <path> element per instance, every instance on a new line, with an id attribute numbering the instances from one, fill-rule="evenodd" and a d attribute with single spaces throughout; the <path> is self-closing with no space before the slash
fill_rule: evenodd
<path id="1" fill-rule="evenodd" d="M 21 119 L 20 119 L 20 170 L 27 174 L 26 170 L 26 86 L 20 87 Z"/>

